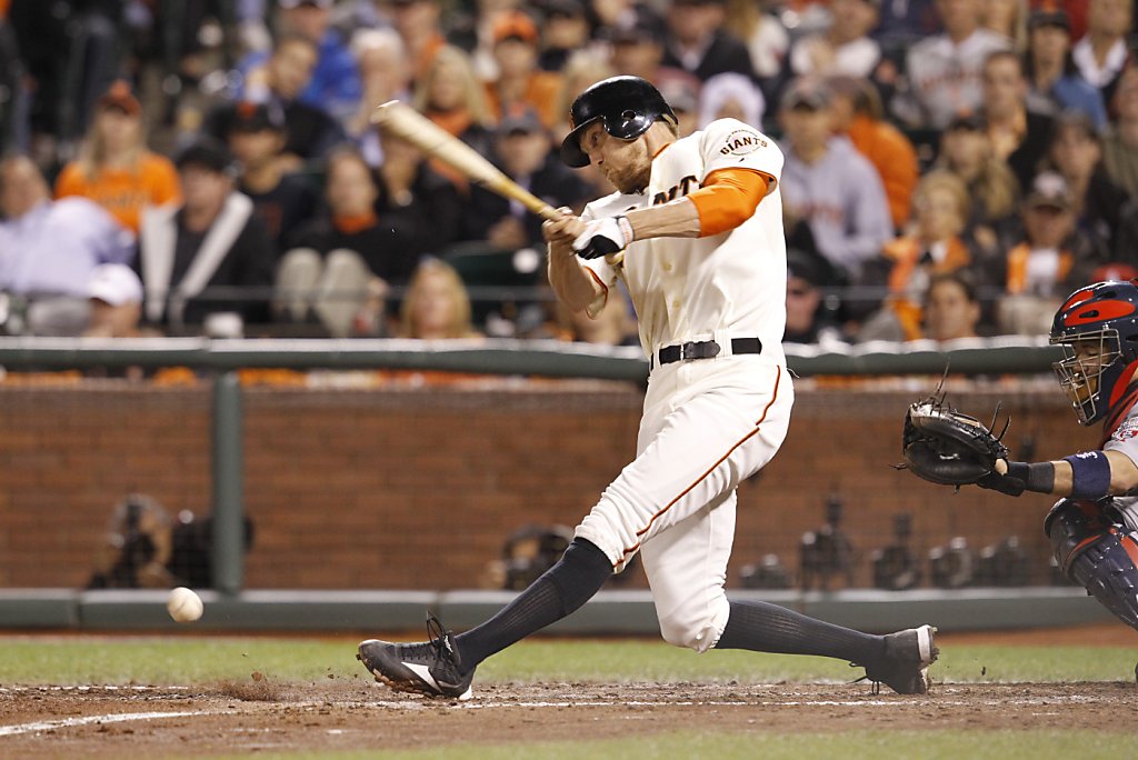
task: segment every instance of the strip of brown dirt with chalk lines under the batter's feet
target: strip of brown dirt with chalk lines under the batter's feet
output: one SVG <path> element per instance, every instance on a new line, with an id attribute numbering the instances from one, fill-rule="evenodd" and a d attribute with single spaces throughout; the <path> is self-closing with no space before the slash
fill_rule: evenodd
<path id="1" fill-rule="evenodd" d="M 940 685 L 926 696 L 857 685 L 496 684 L 465 703 L 343 681 L 0 691 L 6 757 L 167 757 L 255 751 L 411 749 L 616 738 L 690 728 L 732 733 L 1050 728 L 1132 709 L 1132 684 Z M 998 705 L 998 709 L 993 707 Z M 634 728 L 633 728 L 634 727 Z"/>

